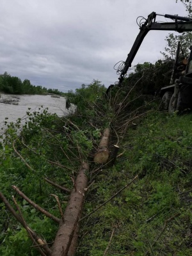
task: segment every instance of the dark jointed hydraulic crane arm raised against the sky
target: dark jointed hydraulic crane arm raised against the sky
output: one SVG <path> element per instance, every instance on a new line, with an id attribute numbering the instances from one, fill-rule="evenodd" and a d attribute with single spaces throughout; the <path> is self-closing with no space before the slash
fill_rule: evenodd
<path id="1" fill-rule="evenodd" d="M 157 15 L 163 16 L 168 19 L 172 19 L 173 22 L 156 22 Z M 127 70 L 129 69 L 129 67 L 131 67 L 132 61 L 134 60 L 134 57 L 136 56 L 138 49 L 140 49 L 140 45 L 142 44 L 143 39 L 150 30 L 177 31 L 179 33 L 192 31 L 192 19 L 188 17 L 180 17 L 177 15 L 160 15 L 156 12 L 150 13 L 150 15 L 148 15 L 148 18 L 145 20 L 144 24 L 140 26 L 140 33 L 138 34 L 136 40 L 134 41 L 134 44 L 132 45 L 131 51 L 127 56 L 127 60 L 125 60 L 121 70 L 118 70 L 118 72 L 120 73 L 120 77 L 118 78 L 119 81 L 117 84 L 118 86 L 121 86 L 122 82 L 124 81 L 124 77 L 127 74 Z M 113 84 L 109 86 L 106 92 L 107 95 L 109 90 L 113 86 Z"/>

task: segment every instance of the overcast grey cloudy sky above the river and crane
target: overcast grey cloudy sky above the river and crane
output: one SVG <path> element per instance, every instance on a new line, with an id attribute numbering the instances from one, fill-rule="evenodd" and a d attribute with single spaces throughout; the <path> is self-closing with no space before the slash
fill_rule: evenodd
<path id="1" fill-rule="evenodd" d="M 99 79 L 118 80 L 139 33 L 136 18 L 151 12 L 186 16 L 175 0 L 1 0 L 0 74 L 62 92 Z M 159 17 L 157 20 L 170 21 Z M 163 58 L 169 32 L 150 31 L 133 65 Z"/>

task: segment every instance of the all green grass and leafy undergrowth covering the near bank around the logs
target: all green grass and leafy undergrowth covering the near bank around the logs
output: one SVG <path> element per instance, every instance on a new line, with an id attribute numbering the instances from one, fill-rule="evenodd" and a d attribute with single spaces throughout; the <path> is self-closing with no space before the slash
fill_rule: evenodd
<path id="1" fill-rule="evenodd" d="M 74 115 L 58 118 L 40 108 L 35 113 L 29 109 L 24 123 L 5 121 L 0 191 L 13 207 L 15 196 L 26 223 L 51 246 L 58 225 L 16 195 L 12 185 L 60 218 L 50 194 L 59 197 L 63 211 L 69 195 L 45 178 L 72 189 L 86 159 L 90 188 L 83 216 L 90 217 L 80 223 L 76 255 L 191 255 L 192 115 L 162 113 L 158 99 L 136 97 L 134 87 L 122 106 L 123 92 L 105 100 L 104 87 L 93 81 L 68 95 L 78 106 Z M 92 163 L 106 127 L 112 129 L 110 149 L 116 143 L 120 147 L 114 166 Z M 129 187 L 92 214 L 136 175 Z M 0 254 L 39 255 L 26 230 L 2 202 L 0 207 Z"/>

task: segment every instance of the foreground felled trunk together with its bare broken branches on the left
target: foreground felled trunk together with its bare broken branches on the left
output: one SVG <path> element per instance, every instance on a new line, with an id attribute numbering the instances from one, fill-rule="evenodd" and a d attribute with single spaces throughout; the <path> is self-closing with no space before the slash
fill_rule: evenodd
<path id="1" fill-rule="evenodd" d="M 17 204 L 15 198 L 13 198 L 13 202 L 17 207 L 17 211 L 19 214 L 15 212 L 12 205 L 6 200 L 5 196 L 0 192 L 0 199 L 4 202 L 9 211 L 13 214 L 17 221 L 26 229 L 29 237 L 36 245 L 36 248 L 39 250 L 40 255 L 51 255 L 51 256 L 73 256 L 76 252 L 76 243 L 77 243 L 77 232 L 78 232 L 78 221 L 81 216 L 81 209 L 83 207 L 84 202 L 84 192 L 86 191 L 87 186 L 87 178 L 86 172 L 88 172 L 89 166 L 87 163 L 83 163 L 81 168 L 79 168 L 79 173 L 77 174 L 76 181 L 74 181 L 74 189 L 70 194 L 70 200 L 68 202 L 65 213 L 62 213 L 61 205 L 58 200 L 58 196 L 54 195 L 56 200 L 58 201 L 59 209 L 61 212 L 61 220 L 52 216 L 49 212 L 45 211 L 39 205 L 32 202 L 24 193 L 22 193 L 16 186 L 12 186 L 17 193 L 19 193 L 24 200 L 28 201 L 35 209 L 45 214 L 45 216 L 51 218 L 57 223 L 60 222 L 60 227 L 56 234 L 56 238 L 54 239 L 54 244 L 50 249 L 44 239 L 40 238 L 35 232 L 28 227 L 24 217 L 22 216 L 22 212 Z"/>

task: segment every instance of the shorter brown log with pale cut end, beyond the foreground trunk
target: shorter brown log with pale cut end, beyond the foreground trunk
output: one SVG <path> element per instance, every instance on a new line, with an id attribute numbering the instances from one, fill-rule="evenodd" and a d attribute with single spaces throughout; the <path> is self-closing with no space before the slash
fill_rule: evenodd
<path id="1" fill-rule="evenodd" d="M 95 163 L 105 164 L 108 161 L 109 158 L 109 135 L 110 130 L 109 128 L 106 128 L 104 130 L 104 134 L 100 140 L 99 147 L 97 149 L 97 153 L 95 154 L 93 161 Z"/>

